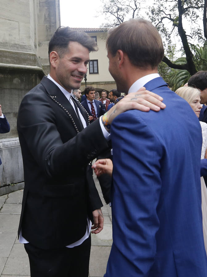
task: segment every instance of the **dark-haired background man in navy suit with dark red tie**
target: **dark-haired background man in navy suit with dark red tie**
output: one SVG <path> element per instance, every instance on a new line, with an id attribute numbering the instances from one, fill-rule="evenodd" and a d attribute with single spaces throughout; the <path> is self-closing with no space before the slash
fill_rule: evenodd
<path id="1" fill-rule="evenodd" d="M 86 111 L 89 114 L 89 121 L 92 123 L 101 115 L 106 113 L 106 108 L 101 101 L 95 100 L 95 88 L 93 86 L 87 86 L 84 90 L 86 100 L 81 102 Z"/>

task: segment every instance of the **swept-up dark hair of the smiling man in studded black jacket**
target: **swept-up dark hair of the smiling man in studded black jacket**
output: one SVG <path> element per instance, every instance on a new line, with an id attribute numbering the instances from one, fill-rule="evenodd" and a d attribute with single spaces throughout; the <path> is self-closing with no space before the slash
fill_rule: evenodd
<path id="1" fill-rule="evenodd" d="M 82 46 L 86 47 L 89 52 L 97 51 L 95 40 L 89 37 L 88 34 L 72 30 L 69 27 L 60 26 L 49 42 L 48 54 L 50 55 L 52 51 L 56 51 L 61 58 L 67 52 L 68 43 L 71 41 L 79 42 Z"/>

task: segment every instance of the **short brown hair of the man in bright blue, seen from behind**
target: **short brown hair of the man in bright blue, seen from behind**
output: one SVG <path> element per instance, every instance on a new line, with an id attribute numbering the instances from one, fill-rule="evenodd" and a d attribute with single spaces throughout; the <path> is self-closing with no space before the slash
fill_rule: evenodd
<path id="1" fill-rule="evenodd" d="M 134 66 L 141 68 L 156 68 L 164 56 L 157 29 L 142 18 L 130 19 L 109 30 L 106 48 L 112 56 L 122 50 Z"/>

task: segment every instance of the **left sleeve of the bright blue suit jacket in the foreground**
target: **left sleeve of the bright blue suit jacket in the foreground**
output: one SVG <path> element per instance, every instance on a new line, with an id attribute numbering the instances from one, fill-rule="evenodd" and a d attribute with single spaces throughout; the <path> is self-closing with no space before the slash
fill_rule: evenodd
<path id="1" fill-rule="evenodd" d="M 119 115 L 111 126 L 113 245 L 106 277 L 147 277 L 156 253 L 162 147 L 133 112 Z"/>

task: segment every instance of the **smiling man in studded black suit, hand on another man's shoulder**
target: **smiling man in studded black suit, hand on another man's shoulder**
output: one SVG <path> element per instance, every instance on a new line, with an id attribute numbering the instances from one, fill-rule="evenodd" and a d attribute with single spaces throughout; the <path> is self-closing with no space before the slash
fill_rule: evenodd
<path id="1" fill-rule="evenodd" d="M 71 94 L 81 86 L 94 50 L 96 42 L 84 32 L 58 28 L 49 43 L 50 74 L 19 107 L 25 187 L 18 234 L 31 277 L 88 277 L 91 221 L 92 233 L 103 228 L 89 164 L 108 149 L 107 130 L 118 114 L 163 105 L 155 94 L 135 93 L 89 125 L 88 114 Z"/>

